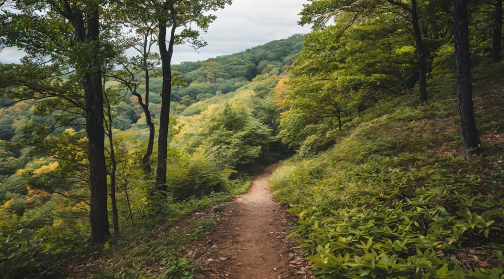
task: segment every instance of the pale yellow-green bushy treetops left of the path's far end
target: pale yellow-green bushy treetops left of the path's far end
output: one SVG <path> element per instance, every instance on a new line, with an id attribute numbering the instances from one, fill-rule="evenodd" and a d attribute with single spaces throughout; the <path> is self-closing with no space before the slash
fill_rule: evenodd
<path id="1" fill-rule="evenodd" d="M 176 141 L 221 169 L 253 164 L 272 140 L 271 128 L 256 119 L 247 106 L 253 98 L 253 93 L 244 91 L 233 98 L 232 105 L 211 105 L 187 119 Z"/>

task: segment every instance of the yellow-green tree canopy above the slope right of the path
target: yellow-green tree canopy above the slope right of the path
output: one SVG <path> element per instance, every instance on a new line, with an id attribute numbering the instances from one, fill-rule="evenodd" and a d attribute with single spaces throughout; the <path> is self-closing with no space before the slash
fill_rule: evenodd
<path id="1" fill-rule="evenodd" d="M 450 1 L 415 1 L 426 56 L 428 98 L 455 91 Z M 311 0 L 300 13 L 312 25 L 292 65 L 283 102 L 280 136 L 303 156 L 331 146 L 336 130 L 383 102 L 410 94 L 418 85 L 418 51 L 408 1 Z M 488 62 L 493 3 L 470 4 L 472 62 Z M 482 11 L 484 11 L 482 13 Z M 486 47 L 485 47 L 486 46 Z M 497 66 L 497 65 L 493 65 Z M 411 103 L 408 100 L 408 103 Z M 412 103 L 412 105 L 417 105 Z M 314 143 L 314 138 L 320 143 Z"/>

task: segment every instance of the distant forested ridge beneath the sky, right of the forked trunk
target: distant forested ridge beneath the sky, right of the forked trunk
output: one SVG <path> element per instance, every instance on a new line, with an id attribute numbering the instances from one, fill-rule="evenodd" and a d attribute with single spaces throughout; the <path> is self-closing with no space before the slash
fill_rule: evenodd
<path id="1" fill-rule="evenodd" d="M 258 75 L 283 72 L 299 54 L 303 40 L 304 35 L 294 35 L 243 52 L 174 65 L 173 69 L 189 84 L 174 88 L 175 111 L 182 115 L 200 113 L 209 104 L 219 102 L 220 95 L 228 96 Z M 261 96 L 266 92 L 257 93 Z"/>

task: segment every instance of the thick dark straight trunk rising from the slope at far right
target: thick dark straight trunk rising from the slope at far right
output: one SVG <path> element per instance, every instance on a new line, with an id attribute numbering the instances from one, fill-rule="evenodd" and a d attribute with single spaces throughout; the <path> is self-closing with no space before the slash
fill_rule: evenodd
<path id="1" fill-rule="evenodd" d="M 464 148 L 480 144 L 472 100 L 471 60 L 469 49 L 469 23 L 466 0 L 452 0 L 455 58 L 457 61 L 458 112 L 460 134 Z"/>

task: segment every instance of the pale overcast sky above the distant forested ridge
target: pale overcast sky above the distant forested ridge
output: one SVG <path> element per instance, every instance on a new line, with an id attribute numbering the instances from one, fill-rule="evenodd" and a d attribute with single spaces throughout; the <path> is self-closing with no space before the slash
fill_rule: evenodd
<path id="1" fill-rule="evenodd" d="M 196 52 L 190 46 L 176 46 L 173 64 L 206 60 L 232 54 L 293 34 L 308 33 L 309 27 L 297 25 L 299 12 L 307 0 L 233 0 L 231 6 L 214 12 L 217 20 L 202 37 L 208 46 Z M 0 53 L 0 62 L 19 61 L 22 52 L 10 48 Z"/>

